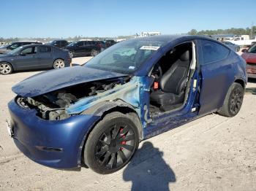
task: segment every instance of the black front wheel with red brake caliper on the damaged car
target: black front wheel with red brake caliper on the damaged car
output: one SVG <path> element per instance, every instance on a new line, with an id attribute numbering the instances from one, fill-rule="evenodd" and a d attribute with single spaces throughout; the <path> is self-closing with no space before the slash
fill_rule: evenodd
<path id="1" fill-rule="evenodd" d="M 89 134 L 84 162 L 98 174 L 111 174 L 129 163 L 138 144 L 138 128 L 132 117 L 113 112 L 99 121 Z"/>

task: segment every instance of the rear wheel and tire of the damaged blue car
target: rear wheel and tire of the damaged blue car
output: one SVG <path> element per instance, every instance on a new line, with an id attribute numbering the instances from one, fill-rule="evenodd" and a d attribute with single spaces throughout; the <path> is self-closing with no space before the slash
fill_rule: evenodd
<path id="1" fill-rule="evenodd" d="M 244 87 L 234 82 L 233 85 L 230 86 L 230 89 L 225 97 L 224 104 L 218 113 L 225 117 L 235 116 L 241 109 L 243 99 Z"/>

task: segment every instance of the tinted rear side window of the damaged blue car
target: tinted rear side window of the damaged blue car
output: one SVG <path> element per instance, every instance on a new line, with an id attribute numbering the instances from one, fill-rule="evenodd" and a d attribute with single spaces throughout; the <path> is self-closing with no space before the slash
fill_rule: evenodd
<path id="1" fill-rule="evenodd" d="M 217 42 L 202 40 L 203 65 L 225 59 L 230 50 Z"/>

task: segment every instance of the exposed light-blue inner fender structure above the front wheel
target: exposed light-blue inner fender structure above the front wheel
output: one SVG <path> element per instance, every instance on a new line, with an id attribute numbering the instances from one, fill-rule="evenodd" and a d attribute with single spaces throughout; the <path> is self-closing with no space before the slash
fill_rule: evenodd
<path id="1" fill-rule="evenodd" d="M 132 77 L 129 82 L 124 85 L 117 85 L 111 90 L 87 98 L 80 99 L 75 104 L 67 108 L 67 114 L 92 114 L 92 111 L 97 110 L 97 105 L 101 103 L 110 104 L 110 107 L 127 106 L 138 114 L 143 126 L 148 122 L 148 96 L 151 79 L 149 77 Z M 116 104 L 113 104 L 116 102 Z M 94 107 L 94 109 L 91 109 Z M 107 107 L 107 106 L 105 106 Z M 146 122 L 147 121 L 147 122 Z"/>

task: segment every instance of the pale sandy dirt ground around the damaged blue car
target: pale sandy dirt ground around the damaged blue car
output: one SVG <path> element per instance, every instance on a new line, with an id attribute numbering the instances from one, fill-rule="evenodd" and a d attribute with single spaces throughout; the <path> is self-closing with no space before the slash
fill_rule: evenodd
<path id="1" fill-rule="evenodd" d="M 8 136 L 11 87 L 38 72 L 0 76 L 0 190 L 256 190 L 256 80 L 236 117 L 209 114 L 147 139 L 129 165 L 102 176 L 34 163 Z"/>

